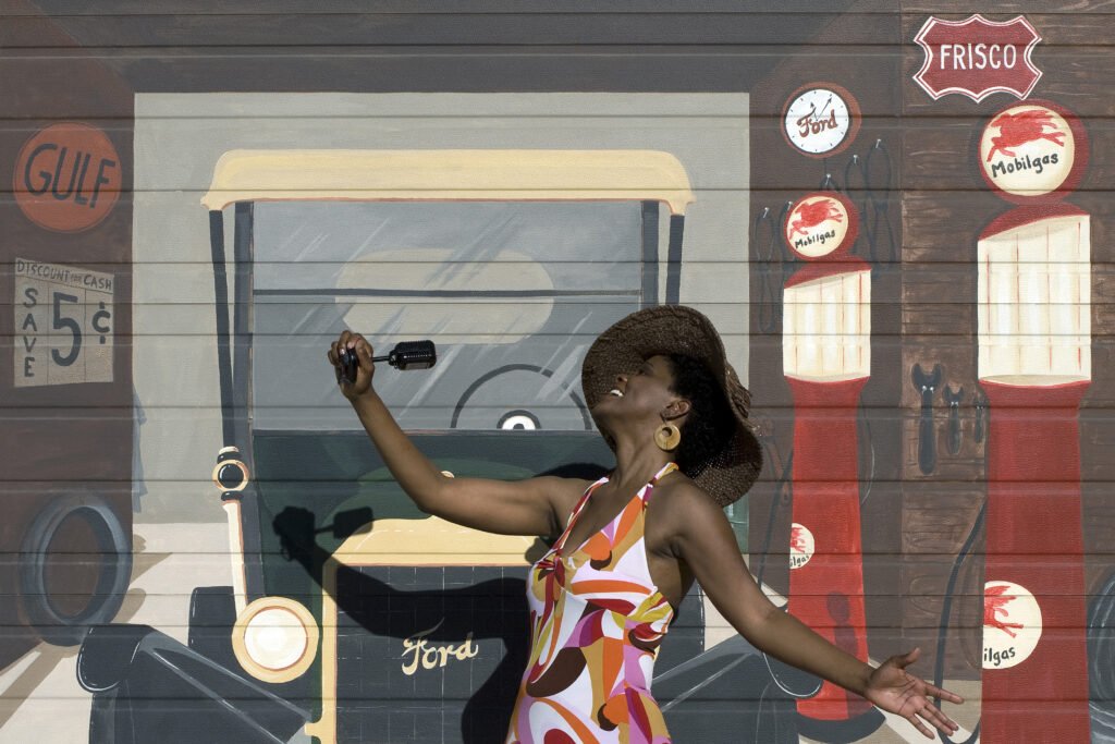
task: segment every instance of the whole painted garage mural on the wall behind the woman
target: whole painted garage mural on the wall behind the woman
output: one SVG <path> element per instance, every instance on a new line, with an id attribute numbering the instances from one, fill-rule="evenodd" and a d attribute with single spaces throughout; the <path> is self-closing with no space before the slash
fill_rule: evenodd
<path id="1" fill-rule="evenodd" d="M 953 742 L 1115 742 L 1115 16 L 651 4 L 0 11 L 0 741 L 501 741 L 546 545 L 418 511 L 329 341 L 433 341 L 377 381 L 439 468 L 588 477 L 588 346 L 681 302 L 768 596 Z M 677 741 L 921 741 L 673 625 Z"/>

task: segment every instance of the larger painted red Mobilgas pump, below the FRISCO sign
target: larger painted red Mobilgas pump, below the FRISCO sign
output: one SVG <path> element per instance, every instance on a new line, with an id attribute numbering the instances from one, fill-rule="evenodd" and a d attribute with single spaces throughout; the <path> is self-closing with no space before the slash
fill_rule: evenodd
<path id="1" fill-rule="evenodd" d="M 978 241 L 979 379 L 990 406 L 981 741 L 1088 742 L 1078 408 L 1092 378 L 1090 235 L 1060 202 L 1079 120 L 1021 102 L 985 128 L 988 184 L 1020 206 Z"/>

